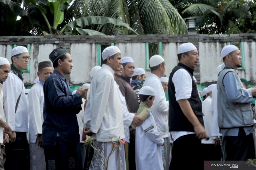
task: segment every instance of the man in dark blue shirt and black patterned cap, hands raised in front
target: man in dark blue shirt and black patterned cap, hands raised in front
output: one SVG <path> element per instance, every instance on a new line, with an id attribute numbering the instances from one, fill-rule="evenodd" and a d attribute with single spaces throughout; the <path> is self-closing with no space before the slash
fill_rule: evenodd
<path id="1" fill-rule="evenodd" d="M 47 170 L 76 169 L 79 129 L 76 114 L 82 110 L 85 90 L 74 95 L 66 75 L 71 73 L 73 59 L 65 47 L 55 48 L 49 55 L 53 73 L 44 83 L 43 147 Z"/>

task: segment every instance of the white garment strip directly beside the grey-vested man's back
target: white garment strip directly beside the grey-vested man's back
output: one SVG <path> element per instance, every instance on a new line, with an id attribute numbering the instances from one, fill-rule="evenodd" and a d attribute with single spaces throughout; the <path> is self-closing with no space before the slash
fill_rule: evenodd
<path id="1" fill-rule="evenodd" d="M 211 105 L 211 114 L 213 116 L 213 121 L 212 121 L 212 137 L 213 139 L 216 139 L 221 135 L 219 133 L 219 125 L 218 125 L 218 108 L 217 108 L 217 87 L 214 87 L 212 90 L 212 105 Z"/>

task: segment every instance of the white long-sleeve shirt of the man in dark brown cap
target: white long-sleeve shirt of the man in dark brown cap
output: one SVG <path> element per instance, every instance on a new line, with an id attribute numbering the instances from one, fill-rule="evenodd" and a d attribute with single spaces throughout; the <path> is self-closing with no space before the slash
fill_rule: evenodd
<path id="1" fill-rule="evenodd" d="M 29 142 L 36 143 L 37 134 L 42 134 L 44 122 L 44 89 L 37 82 L 28 92 Z"/>

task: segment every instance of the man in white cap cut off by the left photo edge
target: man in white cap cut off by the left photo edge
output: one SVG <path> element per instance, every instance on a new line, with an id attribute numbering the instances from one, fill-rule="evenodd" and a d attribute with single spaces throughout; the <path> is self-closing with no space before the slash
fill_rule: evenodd
<path id="1" fill-rule="evenodd" d="M 8 78 L 8 73 L 11 71 L 9 61 L 0 57 L 0 81 L 4 82 Z M 9 143 L 9 136 L 12 134 L 12 129 L 5 122 L 4 107 L 3 107 L 3 87 L 0 83 L 0 170 L 4 170 L 5 163 L 5 144 Z"/>

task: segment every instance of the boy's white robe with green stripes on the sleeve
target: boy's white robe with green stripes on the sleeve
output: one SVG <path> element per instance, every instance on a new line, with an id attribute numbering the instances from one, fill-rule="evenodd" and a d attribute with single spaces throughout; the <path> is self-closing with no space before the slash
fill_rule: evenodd
<path id="1" fill-rule="evenodd" d="M 160 146 L 164 144 L 164 139 L 157 131 L 156 122 L 152 115 L 136 127 L 135 138 L 136 170 L 164 169 L 160 149 Z"/>

